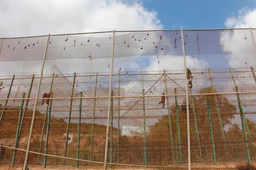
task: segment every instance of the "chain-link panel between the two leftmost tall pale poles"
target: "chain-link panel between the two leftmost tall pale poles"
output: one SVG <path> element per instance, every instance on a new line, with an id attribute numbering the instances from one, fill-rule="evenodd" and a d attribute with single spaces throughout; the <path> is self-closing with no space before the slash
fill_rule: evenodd
<path id="1" fill-rule="evenodd" d="M 111 36 L 112 32 L 50 37 L 44 72 L 51 74 L 42 79 L 39 96 L 66 99 L 37 106 L 44 116 L 40 133 L 33 134 L 41 137 L 30 150 L 63 158 L 30 154 L 35 164 L 102 166 L 97 162 L 104 162 Z"/>

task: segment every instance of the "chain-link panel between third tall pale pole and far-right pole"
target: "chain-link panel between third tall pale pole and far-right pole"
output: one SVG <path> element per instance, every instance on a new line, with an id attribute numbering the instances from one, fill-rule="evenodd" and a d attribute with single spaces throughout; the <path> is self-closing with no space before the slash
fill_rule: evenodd
<path id="1" fill-rule="evenodd" d="M 255 91 L 256 58 L 250 29 L 186 30 L 184 46 L 192 166 L 253 161 L 255 139 L 246 124 L 248 118 L 255 119 L 250 114 L 254 104 L 248 103 L 254 93 L 239 94 Z M 203 93 L 208 95 L 191 96 Z M 233 135 L 232 128 L 236 129 Z M 236 138 L 238 133 L 244 135 Z M 193 140 L 197 145 L 193 146 Z"/>

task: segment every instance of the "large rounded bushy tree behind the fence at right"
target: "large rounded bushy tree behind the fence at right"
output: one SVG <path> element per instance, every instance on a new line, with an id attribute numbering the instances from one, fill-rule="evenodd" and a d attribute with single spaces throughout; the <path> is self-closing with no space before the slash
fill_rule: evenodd
<path id="1" fill-rule="evenodd" d="M 207 88 L 208 93 L 212 93 L 211 87 Z M 200 94 L 205 93 L 205 89 L 201 89 L 199 91 Z M 217 160 L 225 160 L 226 155 L 224 151 L 224 138 L 222 136 L 220 119 L 217 112 L 217 107 L 214 100 L 214 95 L 209 96 L 209 105 L 211 112 L 211 121 L 213 128 L 213 137 L 215 144 L 215 151 Z M 171 98 L 171 97 L 170 97 Z M 221 120 L 223 127 L 225 125 L 230 124 L 230 120 L 233 118 L 233 115 L 237 112 L 237 107 L 230 103 L 228 99 L 224 95 L 216 95 Z M 207 112 L 207 103 L 206 96 L 193 96 L 194 107 L 197 119 L 197 126 L 199 131 L 199 138 L 201 143 L 202 155 L 203 159 L 206 159 L 206 151 L 205 151 L 205 141 L 207 142 L 207 151 L 209 154 L 209 159 L 212 157 L 212 147 L 211 147 L 211 136 L 210 136 L 210 128 L 209 128 L 209 118 Z M 171 109 L 171 124 L 172 124 L 172 136 L 175 148 L 175 160 L 178 162 L 178 127 L 177 127 L 177 116 L 176 116 L 176 108 L 175 103 L 170 103 Z M 181 138 L 181 150 L 182 150 L 182 158 L 183 160 L 187 160 L 187 116 L 186 116 L 186 100 L 184 97 L 178 97 L 178 115 L 179 115 L 179 125 L 180 125 L 180 138 Z M 199 142 L 197 139 L 197 131 L 196 124 L 194 118 L 194 112 L 192 108 L 191 98 L 189 97 L 189 119 L 190 119 L 190 146 L 191 146 L 191 160 L 192 161 L 200 161 L 199 158 Z M 226 136 L 226 133 L 225 133 Z M 154 126 L 150 127 L 150 135 L 148 138 L 148 142 L 150 141 L 153 148 L 164 148 L 168 150 L 169 153 L 169 161 L 171 159 L 171 139 L 170 139 L 170 128 L 169 128 L 169 118 L 168 115 L 161 118 Z M 157 154 L 161 155 L 162 150 L 156 149 Z"/>

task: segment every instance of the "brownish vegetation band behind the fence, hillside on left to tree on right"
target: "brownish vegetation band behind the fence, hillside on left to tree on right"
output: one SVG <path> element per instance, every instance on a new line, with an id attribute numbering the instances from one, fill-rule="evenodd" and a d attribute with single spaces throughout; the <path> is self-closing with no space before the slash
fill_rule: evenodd
<path id="1" fill-rule="evenodd" d="M 200 93 L 203 92 L 204 89 Z M 211 93 L 211 89 L 208 88 L 208 92 Z M 215 149 L 216 149 L 216 157 L 217 161 L 222 162 L 225 160 L 226 162 L 238 162 L 246 160 L 246 152 L 244 150 L 244 141 L 242 131 L 239 129 L 237 124 L 233 124 L 232 127 L 229 128 L 228 131 L 225 132 L 225 136 L 227 139 L 227 143 L 229 144 L 229 160 L 227 159 L 226 152 L 224 151 L 224 141 L 221 135 L 221 128 L 218 123 L 218 115 L 214 104 L 214 97 L 209 97 L 211 116 L 214 119 L 215 123 L 213 123 L 213 134 L 215 138 Z M 237 108 L 235 105 L 228 102 L 227 98 L 223 95 L 218 95 L 217 100 L 220 104 L 220 111 L 222 114 L 223 124 L 230 123 L 229 120 L 233 117 L 233 114 L 237 114 Z M 209 133 L 209 122 L 208 122 L 208 114 L 206 107 L 205 96 L 194 97 L 195 103 L 195 111 L 197 113 L 197 121 L 198 121 L 198 129 L 199 136 L 201 141 L 201 149 L 202 149 L 202 162 L 212 163 L 212 155 L 211 155 L 211 138 Z M 191 108 L 190 108 L 191 109 Z M 187 160 L 187 129 L 186 129 L 186 113 L 184 108 L 179 108 L 179 124 L 180 124 L 180 134 L 181 134 L 181 150 L 182 150 L 182 159 L 183 163 L 186 163 Z M 199 145 L 196 138 L 195 131 L 195 121 L 192 110 L 190 114 L 190 126 L 191 132 L 191 161 L 196 163 L 199 162 Z M 200 114 L 201 113 L 201 114 Z M 15 135 L 17 130 L 17 122 L 18 122 L 19 110 L 14 107 L 7 107 L 4 118 L 1 123 L 0 128 L 0 142 L 3 145 L 13 146 L 15 141 Z M 179 164 L 179 149 L 178 149 L 178 135 L 177 135 L 177 117 L 176 117 L 175 105 L 171 106 L 171 123 L 172 123 L 172 133 L 173 133 L 173 141 L 174 141 L 174 151 L 175 151 L 175 164 Z M 19 148 L 26 148 L 26 141 L 29 134 L 30 122 L 32 117 L 32 110 L 27 110 L 25 114 L 24 123 L 22 126 L 22 132 L 20 136 Z M 249 121 L 249 120 L 248 120 Z M 42 133 L 42 127 L 44 122 L 44 114 L 39 111 L 36 111 L 36 119 L 33 128 L 33 139 L 31 140 L 31 149 L 32 151 L 39 152 L 40 145 L 40 136 Z M 250 131 L 255 131 L 255 124 L 253 122 L 248 122 L 249 124 L 253 124 L 249 126 Z M 63 156 L 64 144 L 65 144 L 65 136 L 66 133 L 67 122 L 63 119 L 55 119 L 51 117 L 50 120 L 50 131 L 49 131 L 49 142 L 48 142 L 48 154 L 55 154 L 55 144 L 58 144 L 58 156 Z M 105 150 L 105 134 L 106 134 L 106 126 L 104 125 L 94 125 L 94 148 L 93 148 L 93 161 L 102 162 L 104 160 L 104 150 Z M 69 133 L 73 134 L 72 143 L 68 145 L 68 154 L 67 157 L 76 158 L 76 144 L 77 144 L 77 129 L 78 124 L 71 123 L 69 128 Z M 237 131 L 234 134 L 234 131 Z M 88 159 L 90 157 L 90 144 L 91 144 L 91 132 L 92 132 L 92 124 L 90 123 L 81 123 L 81 134 L 80 134 L 80 154 L 82 155 L 82 159 Z M 122 132 L 120 131 L 120 134 Z M 237 152 L 236 154 L 234 149 L 234 141 L 233 136 L 236 135 L 237 139 Z M 205 147 L 204 142 L 207 141 L 208 146 Z M 42 145 L 41 152 L 44 150 L 45 145 L 45 136 Z M 86 145 L 86 148 L 84 148 Z M 250 147 L 254 147 L 249 143 Z M 153 126 L 149 127 L 149 132 L 147 134 L 147 159 L 148 165 L 154 166 L 162 166 L 162 165 L 170 165 L 170 160 L 172 158 L 171 152 L 171 142 L 170 142 L 170 129 L 169 129 L 169 118 L 168 116 L 164 116 L 158 120 Z M 208 156 L 207 156 L 208 152 Z M 85 153 L 85 154 L 83 154 Z M 253 153 L 251 153 L 253 155 Z M 1 164 L 10 164 L 11 162 L 12 150 L 6 149 L 4 161 L 1 161 Z M 113 128 L 113 162 L 117 162 L 117 129 Z M 23 164 L 24 161 L 24 152 L 18 151 L 16 156 L 16 164 Z M 223 162 L 225 162 L 223 161 Z M 40 157 L 40 161 L 37 162 L 37 155 L 30 154 L 29 163 L 30 164 L 42 164 L 43 157 Z M 144 140 L 143 135 L 138 133 L 134 136 L 125 136 L 121 135 L 119 140 L 119 162 L 124 164 L 143 164 L 144 163 Z M 49 165 L 54 164 L 54 158 L 49 158 L 47 163 Z M 62 165 L 62 161 L 58 159 L 57 164 Z M 75 165 L 75 161 L 67 160 L 67 165 Z M 242 166 L 240 166 L 242 168 Z M 246 166 L 244 166 L 246 167 Z M 254 168 L 254 167 L 253 167 Z M 244 170 L 244 169 L 240 169 Z"/>

